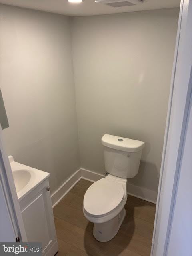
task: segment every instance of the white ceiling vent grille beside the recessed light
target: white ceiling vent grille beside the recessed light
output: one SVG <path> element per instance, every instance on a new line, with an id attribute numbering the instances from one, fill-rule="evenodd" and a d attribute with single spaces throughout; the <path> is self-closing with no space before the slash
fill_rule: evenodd
<path id="1" fill-rule="evenodd" d="M 106 4 L 112 7 L 134 6 L 144 2 L 144 0 L 95 0 L 96 3 Z"/>

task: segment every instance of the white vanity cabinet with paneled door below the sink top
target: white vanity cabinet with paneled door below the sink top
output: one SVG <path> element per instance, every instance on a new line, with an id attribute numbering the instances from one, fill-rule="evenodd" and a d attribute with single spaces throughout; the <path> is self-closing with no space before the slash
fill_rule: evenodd
<path id="1" fill-rule="evenodd" d="M 48 178 L 20 200 L 28 242 L 41 242 L 42 255 L 58 251 Z"/>

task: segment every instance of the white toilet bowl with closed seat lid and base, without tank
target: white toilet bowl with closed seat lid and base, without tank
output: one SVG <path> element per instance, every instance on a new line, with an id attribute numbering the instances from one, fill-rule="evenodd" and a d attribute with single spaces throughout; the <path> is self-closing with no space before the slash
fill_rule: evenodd
<path id="1" fill-rule="evenodd" d="M 84 195 L 84 216 L 94 223 L 93 235 L 100 242 L 111 240 L 125 218 L 126 183 L 126 179 L 109 174 L 94 182 Z"/>

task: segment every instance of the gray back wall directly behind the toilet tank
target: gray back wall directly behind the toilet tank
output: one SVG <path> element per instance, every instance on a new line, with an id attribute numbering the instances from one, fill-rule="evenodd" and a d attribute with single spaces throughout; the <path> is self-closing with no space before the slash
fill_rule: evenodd
<path id="1" fill-rule="evenodd" d="M 81 166 L 104 172 L 103 134 L 146 143 L 129 182 L 158 189 L 178 8 L 77 17 L 72 43 Z"/>

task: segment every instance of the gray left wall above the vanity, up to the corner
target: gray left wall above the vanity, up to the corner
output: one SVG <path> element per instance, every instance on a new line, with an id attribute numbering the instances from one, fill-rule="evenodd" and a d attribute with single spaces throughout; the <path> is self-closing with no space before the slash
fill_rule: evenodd
<path id="1" fill-rule="evenodd" d="M 7 152 L 50 172 L 53 192 L 80 167 L 70 18 L 0 5 L 0 33 Z"/>

